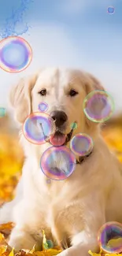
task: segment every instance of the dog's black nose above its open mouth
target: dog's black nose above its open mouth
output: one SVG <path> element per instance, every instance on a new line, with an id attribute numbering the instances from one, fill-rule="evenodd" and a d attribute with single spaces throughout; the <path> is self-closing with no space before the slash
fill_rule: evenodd
<path id="1" fill-rule="evenodd" d="M 53 111 L 50 116 L 54 119 L 57 127 L 65 124 L 65 122 L 68 120 L 66 113 L 63 111 Z"/>

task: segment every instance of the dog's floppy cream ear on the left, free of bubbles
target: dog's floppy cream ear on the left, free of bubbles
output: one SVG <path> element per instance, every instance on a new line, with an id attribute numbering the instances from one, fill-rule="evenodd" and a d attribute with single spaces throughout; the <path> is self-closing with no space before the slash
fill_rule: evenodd
<path id="1" fill-rule="evenodd" d="M 30 76 L 28 79 L 21 79 L 14 86 L 9 94 L 9 102 L 15 111 L 16 120 L 22 124 L 31 113 L 31 90 L 35 86 L 38 74 Z"/>

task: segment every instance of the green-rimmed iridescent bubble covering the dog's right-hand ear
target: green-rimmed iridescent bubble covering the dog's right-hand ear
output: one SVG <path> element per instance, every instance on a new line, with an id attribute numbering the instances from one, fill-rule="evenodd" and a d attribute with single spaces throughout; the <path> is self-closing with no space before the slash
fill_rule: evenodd
<path id="1" fill-rule="evenodd" d="M 113 115 L 113 98 L 106 91 L 91 91 L 83 101 L 83 111 L 93 122 L 107 121 Z"/>

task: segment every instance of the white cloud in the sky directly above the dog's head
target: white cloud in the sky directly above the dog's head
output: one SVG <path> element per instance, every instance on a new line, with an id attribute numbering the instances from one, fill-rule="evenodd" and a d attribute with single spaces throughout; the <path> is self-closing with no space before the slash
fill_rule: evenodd
<path id="1" fill-rule="evenodd" d="M 13 83 L 42 66 L 65 66 L 87 70 L 97 76 L 113 95 L 116 109 L 122 109 L 122 77 L 120 64 L 91 59 L 84 47 L 77 46 L 65 28 L 54 24 L 41 24 L 32 28 L 31 35 L 25 39 L 33 49 L 33 61 L 28 69 L 12 74 L 0 69 L 0 106 L 7 107 L 9 89 Z"/>

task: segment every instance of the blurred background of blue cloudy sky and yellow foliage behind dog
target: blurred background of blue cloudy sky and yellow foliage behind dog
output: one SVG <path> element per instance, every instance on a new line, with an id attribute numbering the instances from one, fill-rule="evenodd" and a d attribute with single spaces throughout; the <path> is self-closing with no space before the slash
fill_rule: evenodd
<path id="1" fill-rule="evenodd" d="M 113 14 L 107 12 L 109 6 L 114 7 Z M 13 198 L 24 160 L 9 90 L 20 77 L 42 66 L 83 69 L 102 81 L 116 106 L 102 134 L 122 161 L 121 27 L 121 0 L 1 0 L 0 39 L 23 37 L 31 45 L 33 60 L 18 74 L 0 69 L 0 106 L 6 108 L 0 118 L 0 204 Z"/>

